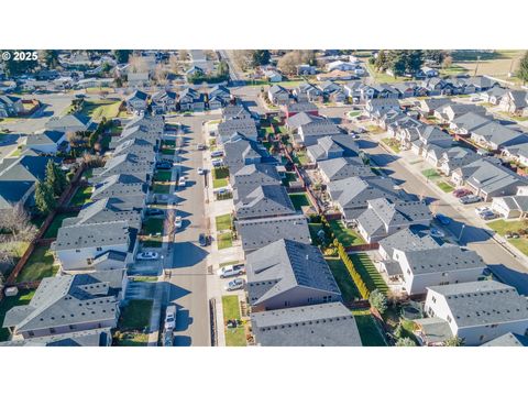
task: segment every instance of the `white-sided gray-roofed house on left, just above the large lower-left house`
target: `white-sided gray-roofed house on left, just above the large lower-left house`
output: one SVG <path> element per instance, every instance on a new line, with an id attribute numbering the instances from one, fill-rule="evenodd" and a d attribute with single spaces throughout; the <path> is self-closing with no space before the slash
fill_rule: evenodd
<path id="1" fill-rule="evenodd" d="M 134 260 L 136 238 L 138 230 L 131 228 L 128 221 L 81 223 L 59 228 L 51 249 L 66 273 L 107 270 L 106 265 L 125 268 Z M 108 261 L 105 255 L 109 252 L 118 255 L 119 260 Z M 102 263 L 100 257 L 105 257 Z"/>

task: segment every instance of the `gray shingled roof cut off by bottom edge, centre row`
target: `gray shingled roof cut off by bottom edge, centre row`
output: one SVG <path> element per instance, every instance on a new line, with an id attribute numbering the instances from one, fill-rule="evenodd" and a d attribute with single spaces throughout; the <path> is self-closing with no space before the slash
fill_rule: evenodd
<path id="1" fill-rule="evenodd" d="M 262 346 L 361 346 L 355 319 L 341 302 L 276 309 L 251 315 Z"/>

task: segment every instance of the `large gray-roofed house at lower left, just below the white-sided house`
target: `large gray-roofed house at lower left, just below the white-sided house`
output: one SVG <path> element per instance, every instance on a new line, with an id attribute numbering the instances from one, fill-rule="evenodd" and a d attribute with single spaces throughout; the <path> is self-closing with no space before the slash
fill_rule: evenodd
<path id="1" fill-rule="evenodd" d="M 6 314 L 3 327 L 24 340 L 114 328 L 125 285 L 120 270 L 46 277 L 29 305 Z"/>

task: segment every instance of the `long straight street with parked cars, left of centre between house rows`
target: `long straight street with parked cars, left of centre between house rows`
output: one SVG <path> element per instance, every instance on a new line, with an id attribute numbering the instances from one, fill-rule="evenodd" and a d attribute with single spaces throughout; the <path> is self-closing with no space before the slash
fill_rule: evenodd
<path id="1" fill-rule="evenodd" d="M 205 220 L 204 177 L 197 168 L 202 166 L 202 152 L 196 144 L 204 143 L 202 122 L 218 116 L 194 116 L 169 119 L 180 122 L 185 146 L 180 155 L 179 175 L 187 176 L 187 186 L 176 189 L 177 216 L 183 218 L 183 228 L 176 233 L 172 248 L 170 278 L 166 293 L 167 302 L 178 307 L 175 346 L 210 345 L 209 309 L 207 297 L 208 248 L 200 248 L 198 237 L 207 230 Z"/>

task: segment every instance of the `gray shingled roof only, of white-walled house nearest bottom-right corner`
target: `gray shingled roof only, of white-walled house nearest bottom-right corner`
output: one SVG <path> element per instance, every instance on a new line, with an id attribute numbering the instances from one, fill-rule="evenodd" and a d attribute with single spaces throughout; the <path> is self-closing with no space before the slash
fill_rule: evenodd
<path id="1" fill-rule="evenodd" d="M 528 299 L 495 280 L 430 286 L 446 297 L 459 328 L 528 319 Z"/>

